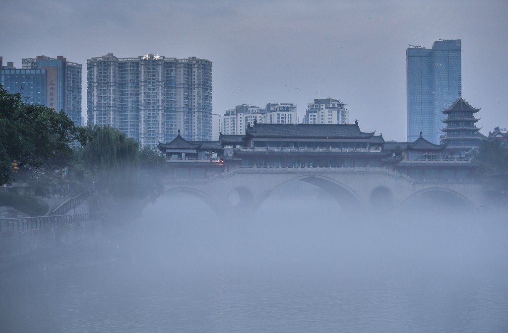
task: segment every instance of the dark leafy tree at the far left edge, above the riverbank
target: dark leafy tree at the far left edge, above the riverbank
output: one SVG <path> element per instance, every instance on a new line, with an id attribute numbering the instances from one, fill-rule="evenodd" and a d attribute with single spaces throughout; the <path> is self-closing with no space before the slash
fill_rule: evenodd
<path id="1" fill-rule="evenodd" d="M 0 184 L 14 180 L 18 167 L 49 167 L 70 163 L 72 145 L 84 145 L 89 137 L 63 110 L 21 101 L 0 85 Z"/>

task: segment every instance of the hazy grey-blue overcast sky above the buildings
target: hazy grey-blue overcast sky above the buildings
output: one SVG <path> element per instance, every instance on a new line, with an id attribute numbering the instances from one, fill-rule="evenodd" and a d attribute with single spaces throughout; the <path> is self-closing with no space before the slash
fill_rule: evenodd
<path id="1" fill-rule="evenodd" d="M 406 140 L 408 45 L 462 40 L 462 97 L 481 132 L 508 127 L 508 2 L 502 0 L 2 0 L 4 63 L 113 53 L 213 63 L 213 113 L 242 103 L 347 104 L 350 123 Z"/>

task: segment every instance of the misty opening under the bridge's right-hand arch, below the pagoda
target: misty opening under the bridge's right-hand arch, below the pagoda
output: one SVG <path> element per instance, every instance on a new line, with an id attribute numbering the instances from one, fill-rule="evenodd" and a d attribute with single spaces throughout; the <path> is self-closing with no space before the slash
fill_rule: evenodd
<path id="1" fill-rule="evenodd" d="M 402 203 L 406 209 L 429 210 L 441 209 L 447 211 L 474 210 L 474 205 L 458 192 L 434 187 L 419 191 L 408 197 Z"/>

